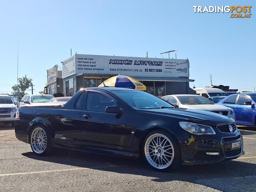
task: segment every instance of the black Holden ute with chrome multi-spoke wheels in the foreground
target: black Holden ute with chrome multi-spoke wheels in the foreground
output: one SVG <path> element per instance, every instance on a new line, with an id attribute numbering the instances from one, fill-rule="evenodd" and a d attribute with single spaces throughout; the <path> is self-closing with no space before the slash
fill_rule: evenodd
<path id="1" fill-rule="evenodd" d="M 156 170 L 171 170 L 180 164 L 231 160 L 243 152 L 232 118 L 174 108 L 126 88 L 85 88 L 66 104 L 21 106 L 16 119 L 16 137 L 37 155 L 67 148 L 141 157 Z"/>

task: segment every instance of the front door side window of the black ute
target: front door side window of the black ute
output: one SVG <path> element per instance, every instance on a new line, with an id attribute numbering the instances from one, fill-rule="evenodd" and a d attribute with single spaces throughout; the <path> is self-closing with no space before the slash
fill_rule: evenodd
<path id="1" fill-rule="evenodd" d="M 105 112 L 107 106 L 118 106 L 118 102 L 105 92 L 88 91 L 86 110 Z"/>

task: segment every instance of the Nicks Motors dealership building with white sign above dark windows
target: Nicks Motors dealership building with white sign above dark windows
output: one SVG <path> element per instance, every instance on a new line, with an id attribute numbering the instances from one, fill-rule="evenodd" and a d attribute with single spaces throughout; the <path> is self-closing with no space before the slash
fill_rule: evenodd
<path id="1" fill-rule="evenodd" d="M 75 54 L 62 62 L 64 96 L 96 87 L 112 76 L 131 76 L 156 96 L 195 94 L 189 87 L 188 59 L 141 58 Z"/>

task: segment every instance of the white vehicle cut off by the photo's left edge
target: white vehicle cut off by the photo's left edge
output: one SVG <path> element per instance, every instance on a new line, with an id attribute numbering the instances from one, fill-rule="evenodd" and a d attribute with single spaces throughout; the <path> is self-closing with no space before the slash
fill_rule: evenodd
<path id="1" fill-rule="evenodd" d="M 14 127 L 17 107 L 8 95 L 0 95 L 0 123 L 11 123 Z"/>

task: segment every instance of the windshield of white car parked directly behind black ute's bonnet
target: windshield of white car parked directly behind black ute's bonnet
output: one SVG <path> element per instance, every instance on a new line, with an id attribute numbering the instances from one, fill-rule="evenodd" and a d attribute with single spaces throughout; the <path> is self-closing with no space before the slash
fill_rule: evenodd
<path id="1" fill-rule="evenodd" d="M 180 102 L 184 105 L 203 105 L 214 104 L 203 96 L 177 96 Z"/>

